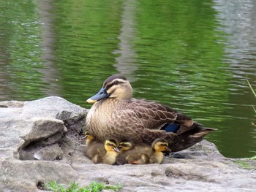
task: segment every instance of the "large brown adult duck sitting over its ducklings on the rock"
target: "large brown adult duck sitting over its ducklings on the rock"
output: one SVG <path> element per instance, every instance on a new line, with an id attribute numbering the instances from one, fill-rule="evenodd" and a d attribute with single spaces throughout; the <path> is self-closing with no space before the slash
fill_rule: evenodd
<path id="1" fill-rule="evenodd" d="M 172 152 L 203 140 L 215 128 L 206 128 L 187 115 L 156 101 L 132 98 L 132 85 L 122 74 L 103 82 L 97 94 L 87 99 L 93 104 L 86 116 L 86 129 L 99 142 L 107 138 L 129 138 L 133 143 L 151 145 L 165 139 Z"/>

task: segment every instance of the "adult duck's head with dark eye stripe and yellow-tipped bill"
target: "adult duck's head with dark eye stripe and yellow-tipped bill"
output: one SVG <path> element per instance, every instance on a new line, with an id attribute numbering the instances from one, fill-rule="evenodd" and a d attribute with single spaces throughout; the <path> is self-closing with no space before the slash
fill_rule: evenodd
<path id="1" fill-rule="evenodd" d="M 105 98 L 129 100 L 132 99 L 132 86 L 121 74 L 113 74 L 103 83 L 99 92 L 87 99 L 86 102 L 94 103 Z"/>

